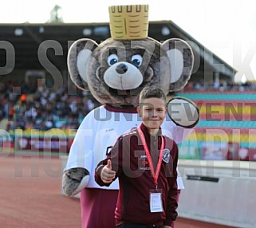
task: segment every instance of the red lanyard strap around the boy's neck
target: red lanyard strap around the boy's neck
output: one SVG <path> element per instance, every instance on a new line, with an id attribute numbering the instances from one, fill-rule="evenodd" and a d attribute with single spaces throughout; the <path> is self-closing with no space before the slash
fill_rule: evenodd
<path id="1" fill-rule="evenodd" d="M 156 172 L 155 172 L 154 171 L 154 165 L 153 165 L 153 162 L 152 162 L 152 157 L 151 157 L 151 155 L 149 153 L 148 145 L 146 143 L 144 134 L 143 134 L 140 126 L 137 129 L 138 129 L 138 132 L 139 132 L 139 135 L 140 135 L 140 140 L 143 143 L 144 150 L 145 150 L 147 158 L 148 158 L 148 164 L 149 164 L 150 171 L 151 171 L 153 179 L 154 179 L 154 183 L 155 183 L 156 188 L 157 188 L 157 179 L 158 179 L 158 176 L 160 174 L 160 167 L 161 167 L 161 163 L 162 163 L 162 159 L 163 159 L 163 147 L 164 147 L 164 145 L 163 145 L 164 144 L 163 136 L 161 136 L 162 143 L 161 143 L 161 148 L 160 148 L 160 158 L 158 160 L 157 167 L 156 167 Z"/>

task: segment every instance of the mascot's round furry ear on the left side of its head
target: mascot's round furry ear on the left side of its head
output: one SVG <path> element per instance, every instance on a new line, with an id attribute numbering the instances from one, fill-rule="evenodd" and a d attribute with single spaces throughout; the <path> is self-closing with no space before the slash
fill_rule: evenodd
<path id="1" fill-rule="evenodd" d="M 71 45 L 68 53 L 68 69 L 71 80 L 78 88 L 89 90 L 87 65 L 97 43 L 91 39 L 80 39 Z"/>

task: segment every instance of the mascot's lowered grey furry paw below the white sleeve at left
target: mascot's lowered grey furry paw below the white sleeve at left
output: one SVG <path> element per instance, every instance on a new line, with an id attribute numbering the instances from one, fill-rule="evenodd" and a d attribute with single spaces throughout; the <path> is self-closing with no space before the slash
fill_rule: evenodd
<path id="1" fill-rule="evenodd" d="M 85 168 L 77 167 L 64 172 L 62 178 L 62 189 L 67 196 L 77 195 L 88 183 L 89 171 Z"/>

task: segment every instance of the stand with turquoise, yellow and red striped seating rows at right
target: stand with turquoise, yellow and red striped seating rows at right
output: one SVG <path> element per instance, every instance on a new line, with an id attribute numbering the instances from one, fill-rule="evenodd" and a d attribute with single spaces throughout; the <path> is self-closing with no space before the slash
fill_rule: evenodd
<path id="1" fill-rule="evenodd" d="M 253 90 L 178 92 L 199 106 L 199 124 L 187 140 L 183 159 L 234 159 L 256 161 L 256 94 Z M 181 148 L 183 151 L 183 148 Z M 192 152 L 194 151 L 194 152 Z"/>

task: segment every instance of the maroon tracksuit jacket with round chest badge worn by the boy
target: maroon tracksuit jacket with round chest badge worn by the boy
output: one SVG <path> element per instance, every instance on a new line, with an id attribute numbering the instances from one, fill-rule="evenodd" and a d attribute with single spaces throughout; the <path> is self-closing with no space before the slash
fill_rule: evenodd
<path id="1" fill-rule="evenodd" d="M 162 143 L 161 136 L 151 136 L 144 124 L 141 124 L 141 129 L 156 171 Z M 158 189 L 163 190 L 163 212 L 150 212 L 149 192 L 155 188 L 155 183 L 137 129 L 120 136 L 108 157 L 96 167 L 95 180 L 100 186 L 109 186 L 100 179 L 100 172 L 108 163 L 108 159 L 111 159 L 112 170 L 116 171 L 116 178 L 119 178 L 120 191 L 115 211 L 116 226 L 127 222 L 171 226 L 175 221 L 178 206 L 176 201 L 178 147 L 166 136 L 163 140 L 163 161 L 158 178 Z"/>

